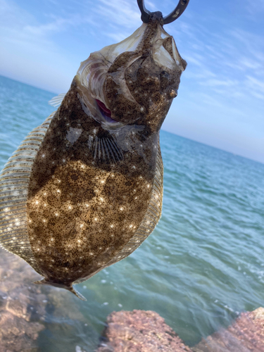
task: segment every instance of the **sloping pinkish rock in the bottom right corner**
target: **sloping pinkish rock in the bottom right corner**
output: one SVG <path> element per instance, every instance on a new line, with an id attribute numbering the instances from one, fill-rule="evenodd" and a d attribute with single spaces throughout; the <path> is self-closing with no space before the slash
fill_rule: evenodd
<path id="1" fill-rule="evenodd" d="M 227 329 L 202 339 L 194 352 L 264 352 L 264 308 L 241 313 Z"/>

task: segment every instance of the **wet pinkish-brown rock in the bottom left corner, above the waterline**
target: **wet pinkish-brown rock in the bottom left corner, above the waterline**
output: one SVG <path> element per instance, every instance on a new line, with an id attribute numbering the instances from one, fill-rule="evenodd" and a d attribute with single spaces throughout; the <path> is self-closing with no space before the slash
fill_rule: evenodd
<path id="1" fill-rule="evenodd" d="M 37 279 L 39 275 L 24 260 L 0 249 L 1 352 L 37 351 L 46 306 L 41 301 L 46 294 L 32 285 Z"/>

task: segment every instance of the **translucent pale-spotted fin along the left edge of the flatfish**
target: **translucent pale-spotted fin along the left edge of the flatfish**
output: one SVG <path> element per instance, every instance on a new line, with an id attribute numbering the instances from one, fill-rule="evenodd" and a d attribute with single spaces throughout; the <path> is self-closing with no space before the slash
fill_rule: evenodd
<path id="1" fill-rule="evenodd" d="M 0 246 L 23 258 L 40 275 L 27 232 L 27 191 L 34 158 L 54 113 L 27 134 L 0 173 Z"/>

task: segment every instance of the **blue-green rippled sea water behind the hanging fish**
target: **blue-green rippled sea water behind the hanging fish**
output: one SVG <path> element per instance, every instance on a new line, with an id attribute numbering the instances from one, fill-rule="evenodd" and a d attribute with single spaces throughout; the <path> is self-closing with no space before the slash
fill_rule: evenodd
<path id="1" fill-rule="evenodd" d="M 0 169 L 54 110 L 53 96 L 0 76 Z M 93 351 L 107 315 L 121 309 L 155 310 L 193 346 L 264 305 L 264 165 L 163 131 L 161 151 L 156 230 L 130 257 L 77 285 L 87 302 L 71 299 L 85 325 L 46 312 L 39 351 Z"/>

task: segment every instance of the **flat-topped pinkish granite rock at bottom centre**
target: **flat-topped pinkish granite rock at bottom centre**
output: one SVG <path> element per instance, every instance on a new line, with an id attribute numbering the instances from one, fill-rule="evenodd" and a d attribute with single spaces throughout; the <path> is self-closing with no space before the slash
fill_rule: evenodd
<path id="1" fill-rule="evenodd" d="M 111 313 L 103 335 L 97 352 L 191 352 L 164 319 L 151 310 Z"/>

